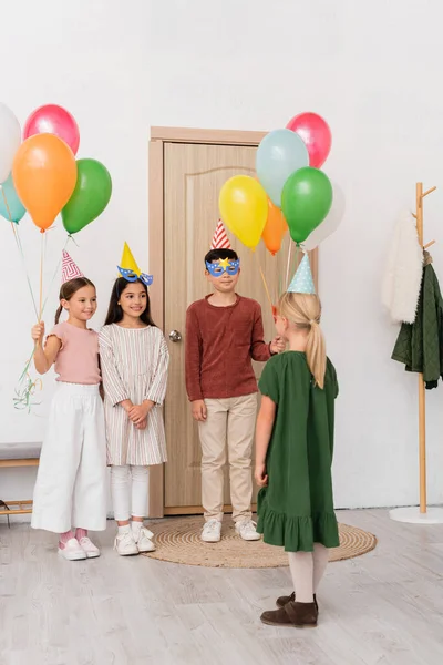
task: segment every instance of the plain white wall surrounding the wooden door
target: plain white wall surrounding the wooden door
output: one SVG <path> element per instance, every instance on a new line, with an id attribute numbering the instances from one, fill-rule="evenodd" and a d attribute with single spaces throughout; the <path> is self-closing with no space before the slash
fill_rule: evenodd
<path id="1" fill-rule="evenodd" d="M 395 215 L 413 205 L 416 180 L 440 186 L 425 203 L 425 238 L 441 241 L 433 255 L 443 279 L 439 0 L 16 0 L 2 20 L 10 60 L 2 101 L 21 121 L 40 103 L 65 105 L 81 127 L 81 156 L 102 160 L 113 176 L 110 207 L 72 249 L 97 283 L 97 325 L 123 239 L 146 262 L 150 125 L 271 130 L 303 110 L 328 119 L 333 149 L 324 168 L 347 200 L 320 263 L 324 329 L 341 379 L 337 504 L 416 502 L 416 380 L 390 360 L 396 329 L 381 310 L 380 279 Z M 22 235 L 37 275 L 38 234 L 23 222 Z M 24 279 L 11 277 L 18 259 L 8 228 L 1 238 L 0 438 L 32 440 L 43 431 L 51 380 L 38 415 L 13 410 L 32 311 Z M 62 231 L 48 242 L 54 264 Z M 430 502 L 443 501 L 441 395 L 427 395 Z M 29 484 L 23 472 L 7 475 L 1 494 Z"/>

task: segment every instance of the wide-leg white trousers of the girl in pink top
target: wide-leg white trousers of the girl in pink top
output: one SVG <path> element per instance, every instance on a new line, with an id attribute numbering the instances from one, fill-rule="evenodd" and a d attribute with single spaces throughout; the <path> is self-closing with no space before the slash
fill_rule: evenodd
<path id="1" fill-rule="evenodd" d="M 34 488 L 31 525 L 106 529 L 106 439 L 99 386 L 59 383 Z"/>

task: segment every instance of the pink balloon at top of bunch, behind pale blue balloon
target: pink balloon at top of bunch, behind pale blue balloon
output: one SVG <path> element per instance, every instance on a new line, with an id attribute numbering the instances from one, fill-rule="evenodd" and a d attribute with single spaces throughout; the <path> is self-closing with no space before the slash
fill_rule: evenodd
<path id="1" fill-rule="evenodd" d="M 331 150 L 331 130 L 317 113 L 300 113 L 286 125 L 288 130 L 296 132 L 303 140 L 309 153 L 309 166 L 320 168 L 326 162 Z"/>

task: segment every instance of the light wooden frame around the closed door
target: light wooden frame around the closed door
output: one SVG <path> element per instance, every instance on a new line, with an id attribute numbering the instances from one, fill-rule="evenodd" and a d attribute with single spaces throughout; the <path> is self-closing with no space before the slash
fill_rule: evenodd
<path id="1" fill-rule="evenodd" d="M 258 146 L 267 132 L 241 130 L 198 130 L 188 127 L 151 127 L 148 150 L 148 242 L 150 273 L 155 287 L 151 297 L 151 310 L 155 323 L 165 328 L 164 289 L 164 144 L 207 143 L 215 145 Z M 318 252 L 311 254 L 311 269 L 317 284 Z M 165 331 L 166 332 L 166 331 Z M 157 464 L 150 470 L 150 518 L 163 518 L 165 509 L 165 469 Z M 186 507 L 183 514 L 196 512 L 197 507 Z"/>

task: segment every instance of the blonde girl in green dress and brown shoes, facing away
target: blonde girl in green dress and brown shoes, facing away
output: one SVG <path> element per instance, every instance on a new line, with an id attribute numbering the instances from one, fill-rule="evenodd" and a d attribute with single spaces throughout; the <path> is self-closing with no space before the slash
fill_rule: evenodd
<path id="1" fill-rule="evenodd" d="M 278 610 L 261 615 L 271 625 L 317 626 L 317 586 L 328 548 L 339 545 L 331 479 L 338 383 L 320 315 L 312 293 L 280 298 L 276 328 L 289 350 L 268 361 L 259 382 L 257 531 L 266 543 L 285 546 L 295 586 L 277 600 Z"/>

